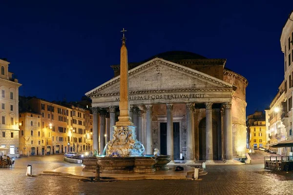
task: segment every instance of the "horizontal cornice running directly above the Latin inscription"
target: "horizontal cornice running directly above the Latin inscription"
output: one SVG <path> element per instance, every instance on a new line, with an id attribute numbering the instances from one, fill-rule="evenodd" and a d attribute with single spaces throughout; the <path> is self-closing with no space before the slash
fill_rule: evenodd
<path id="1" fill-rule="evenodd" d="M 207 88 L 207 89 L 170 89 L 170 90 L 147 90 L 147 91 L 131 91 L 129 95 L 145 95 L 145 94 L 165 94 L 165 93 L 232 93 L 232 88 Z M 111 97 L 120 96 L 120 93 L 97 94 L 91 97 Z"/>

